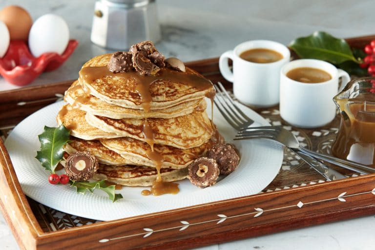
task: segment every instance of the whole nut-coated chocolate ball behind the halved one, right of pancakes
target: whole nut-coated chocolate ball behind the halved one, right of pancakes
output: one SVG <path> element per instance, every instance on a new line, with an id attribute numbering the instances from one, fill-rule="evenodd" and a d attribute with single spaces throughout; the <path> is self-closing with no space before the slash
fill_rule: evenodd
<path id="1" fill-rule="evenodd" d="M 234 147 L 230 144 L 216 144 L 207 152 L 207 157 L 216 160 L 221 174 L 233 172 L 240 161 Z"/>

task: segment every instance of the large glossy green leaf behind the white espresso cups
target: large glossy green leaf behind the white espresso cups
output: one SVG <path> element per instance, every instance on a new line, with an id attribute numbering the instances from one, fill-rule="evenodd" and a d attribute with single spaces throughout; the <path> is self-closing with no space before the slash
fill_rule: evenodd
<path id="1" fill-rule="evenodd" d="M 322 31 L 314 32 L 308 37 L 297 38 L 289 44 L 289 47 L 300 58 L 318 59 L 333 64 L 345 61 L 360 63 L 344 39 L 335 38 Z"/>

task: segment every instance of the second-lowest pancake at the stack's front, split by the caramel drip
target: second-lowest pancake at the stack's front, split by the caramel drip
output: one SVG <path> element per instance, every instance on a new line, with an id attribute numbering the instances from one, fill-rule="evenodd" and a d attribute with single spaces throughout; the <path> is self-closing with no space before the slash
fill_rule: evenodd
<path id="1" fill-rule="evenodd" d="M 120 154 L 124 159 L 133 162 L 134 165 L 156 167 L 154 161 L 147 157 L 150 146 L 142 141 L 129 137 L 101 140 L 101 143 L 112 151 Z M 209 142 L 201 146 L 189 149 L 179 149 L 161 144 L 154 145 L 154 151 L 161 154 L 164 161 L 162 168 L 183 168 L 192 161 L 206 153 Z"/>

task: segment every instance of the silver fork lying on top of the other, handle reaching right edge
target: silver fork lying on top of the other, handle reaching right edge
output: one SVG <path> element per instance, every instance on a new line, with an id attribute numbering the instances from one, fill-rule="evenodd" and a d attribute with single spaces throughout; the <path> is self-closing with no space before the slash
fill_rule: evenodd
<path id="1" fill-rule="evenodd" d="M 291 131 L 281 127 L 281 126 L 261 126 L 261 127 L 248 127 L 242 128 L 237 132 L 234 140 L 242 139 L 255 139 L 255 138 L 265 138 L 271 139 L 281 143 L 284 146 L 293 148 L 297 151 L 301 151 L 305 154 L 309 154 L 317 159 L 332 163 L 339 167 L 345 167 L 359 173 L 368 174 L 375 173 L 375 168 L 368 167 L 359 163 L 352 161 L 343 160 L 330 155 L 314 152 L 307 148 L 300 146 L 297 138 L 292 134 Z"/>

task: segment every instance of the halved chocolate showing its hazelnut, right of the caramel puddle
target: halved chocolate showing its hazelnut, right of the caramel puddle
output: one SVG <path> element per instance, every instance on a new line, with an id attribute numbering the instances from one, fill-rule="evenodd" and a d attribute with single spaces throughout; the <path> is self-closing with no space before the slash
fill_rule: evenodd
<path id="1" fill-rule="evenodd" d="M 197 187 L 209 187 L 216 183 L 220 170 L 214 159 L 200 157 L 188 167 L 187 179 Z"/>

